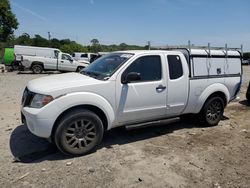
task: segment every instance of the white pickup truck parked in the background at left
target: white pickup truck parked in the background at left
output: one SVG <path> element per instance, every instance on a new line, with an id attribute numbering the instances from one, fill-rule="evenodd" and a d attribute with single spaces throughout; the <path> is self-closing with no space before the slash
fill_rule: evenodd
<path id="1" fill-rule="evenodd" d="M 40 74 L 44 70 L 79 72 L 88 65 L 88 61 L 76 61 L 71 55 L 62 52 L 58 52 L 53 57 L 30 55 L 22 55 L 21 57 L 21 69 L 32 70 L 35 74 Z"/>

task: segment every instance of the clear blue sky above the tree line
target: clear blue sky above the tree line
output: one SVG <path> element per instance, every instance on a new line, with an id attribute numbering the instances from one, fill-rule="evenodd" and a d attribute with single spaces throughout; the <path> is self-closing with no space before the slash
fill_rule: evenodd
<path id="1" fill-rule="evenodd" d="M 10 0 L 15 32 L 89 44 L 244 46 L 250 51 L 250 0 Z"/>

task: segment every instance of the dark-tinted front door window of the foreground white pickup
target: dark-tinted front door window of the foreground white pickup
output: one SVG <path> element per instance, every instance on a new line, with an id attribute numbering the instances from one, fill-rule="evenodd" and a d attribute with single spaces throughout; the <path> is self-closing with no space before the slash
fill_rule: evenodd
<path id="1" fill-rule="evenodd" d="M 136 72 L 140 74 L 141 80 L 138 82 L 156 81 L 162 78 L 161 57 L 158 55 L 143 56 L 136 59 L 123 73 L 125 78 L 128 73 Z"/>

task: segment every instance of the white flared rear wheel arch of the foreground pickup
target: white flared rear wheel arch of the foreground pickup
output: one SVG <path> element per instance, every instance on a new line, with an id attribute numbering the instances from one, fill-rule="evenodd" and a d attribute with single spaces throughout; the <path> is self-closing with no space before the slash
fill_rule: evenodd
<path id="1" fill-rule="evenodd" d="M 221 83 L 214 83 L 208 87 L 206 87 L 201 95 L 198 97 L 197 100 L 197 113 L 201 110 L 203 107 L 205 101 L 208 99 L 209 96 L 211 96 L 213 93 L 216 92 L 221 92 L 225 95 L 227 103 L 229 102 L 230 99 L 230 93 L 227 89 L 227 87 Z"/>

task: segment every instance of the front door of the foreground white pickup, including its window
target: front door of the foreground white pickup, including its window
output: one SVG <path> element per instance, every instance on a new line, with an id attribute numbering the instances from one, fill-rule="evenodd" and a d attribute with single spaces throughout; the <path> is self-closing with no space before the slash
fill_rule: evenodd
<path id="1" fill-rule="evenodd" d="M 166 74 L 163 74 L 162 62 L 163 55 L 143 55 L 119 73 L 116 80 L 119 123 L 136 123 L 166 115 Z M 123 84 L 129 73 L 138 73 L 140 80 Z"/>

